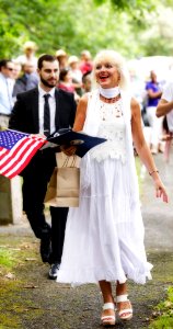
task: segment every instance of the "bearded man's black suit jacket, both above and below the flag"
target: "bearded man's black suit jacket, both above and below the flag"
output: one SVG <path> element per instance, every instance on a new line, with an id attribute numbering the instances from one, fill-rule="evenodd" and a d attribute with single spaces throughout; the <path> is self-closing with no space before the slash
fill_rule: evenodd
<path id="1" fill-rule="evenodd" d="M 73 94 L 60 89 L 56 89 L 55 98 L 56 131 L 59 128 L 72 127 L 77 107 Z M 28 134 L 39 133 L 38 88 L 16 95 L 16 102 L 12 110 L 9 128 Z M 30 179 L 31 174 L 35 172 L 35 177 L 38 179 L 38 175 L 42 175 L 42 170 L 44 170 L 44 179 L 48 181 L 56 166 L 55 151 L 57 151 L 55 148 L 47 148 L 43 151 L 38 150 L 27 167 L 22 171 L 21 175 L 27 175 Z"/>

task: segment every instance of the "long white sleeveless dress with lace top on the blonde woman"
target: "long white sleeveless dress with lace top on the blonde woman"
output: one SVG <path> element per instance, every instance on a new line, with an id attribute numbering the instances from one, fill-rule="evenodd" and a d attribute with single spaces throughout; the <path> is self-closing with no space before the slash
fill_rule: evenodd
<path id="1" fill-rule="evenodd" d="M 150 279 L 139 202 L 131 204 L 122 100 L 100 101 L 97 136 L 81 160 L 80 206 L 70 208 L 58 282 L 73 285 Z M 58 220 L 58 219 L 57 219 Z"/>

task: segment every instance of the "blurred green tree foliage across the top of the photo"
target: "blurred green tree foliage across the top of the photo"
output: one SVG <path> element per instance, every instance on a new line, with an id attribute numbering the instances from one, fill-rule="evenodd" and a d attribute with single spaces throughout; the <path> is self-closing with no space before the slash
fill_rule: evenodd
<path id="1" fill-rule="evenodd" d="M 69 55 L 85 48 L 93 56 L 101 48 L 118 49 L 127 58 L 169 55 L 173 47 L 166 33 L 160 38 L 153 32 L 147 42 L 142 36 L 159 24 L 157 4 L 159 0 L 0 0 L 0 58 L 19 56 L 27 39 L 38 45 L 37 55 L 58 48 Z"/>

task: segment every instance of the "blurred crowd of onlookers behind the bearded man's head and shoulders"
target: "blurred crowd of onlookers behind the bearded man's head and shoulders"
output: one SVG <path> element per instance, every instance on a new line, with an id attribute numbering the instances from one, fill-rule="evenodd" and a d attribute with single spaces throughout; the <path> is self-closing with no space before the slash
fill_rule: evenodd
<path id="1" fill-rule="evenodd" d="M 38 86 L 36 50 L 36 44 L 30 41 L 24 44 L 22 55 L 0 59 L 0 128 L 8 126 L 16 94 Z M 78 102 L 80 97 L 91 89 L 93 66 L 90 52 L 83 50 L 78 57 L 68 56 L 65 50 L 59 49 L 54 55 L 60 69 L 57 87 L 74 93 Z"/>

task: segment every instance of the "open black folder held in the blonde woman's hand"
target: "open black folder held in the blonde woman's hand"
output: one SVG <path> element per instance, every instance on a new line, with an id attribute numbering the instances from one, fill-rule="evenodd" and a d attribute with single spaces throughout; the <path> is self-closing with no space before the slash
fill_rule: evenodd
<path id="1" fill-rule="evenodd" d="M 77 146 L 76 155 L 83 157 L 92 147 L 104 143 L 106 139 L 94 137 L 84 133 L 72 132 L 71 129 L 59 129 L 57 133 L 47 137 L 50 145 L 57 146 Z"/>

